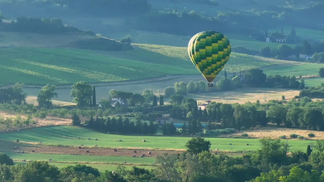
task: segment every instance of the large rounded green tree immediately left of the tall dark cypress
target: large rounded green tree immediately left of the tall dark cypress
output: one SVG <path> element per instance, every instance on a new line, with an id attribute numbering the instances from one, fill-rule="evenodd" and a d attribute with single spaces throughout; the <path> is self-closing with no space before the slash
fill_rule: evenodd
<path id="1" fill-rule="evenodd" d="M 91 85 L 84 81 L 80 81 L 72 85 L 71 96 L 73 97 L 73 101 L 76 102 L 79 107 L 87 105 L 89 97 L 92 96 L 92 93 L 93 91 Z"/>

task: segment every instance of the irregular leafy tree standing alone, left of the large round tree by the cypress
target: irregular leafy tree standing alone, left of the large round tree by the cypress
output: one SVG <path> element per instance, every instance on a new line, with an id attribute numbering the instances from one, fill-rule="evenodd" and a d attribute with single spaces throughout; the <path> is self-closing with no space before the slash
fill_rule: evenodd
<path id="1" fill-rule="evenodd" d="M 41 88 L 37 96 L 37 102 L 40 107 L 50 108 L 52 106 L 52 98 L 54 96 L 57 97 L 55 89 L 55 85 L 48 84 Z"/>

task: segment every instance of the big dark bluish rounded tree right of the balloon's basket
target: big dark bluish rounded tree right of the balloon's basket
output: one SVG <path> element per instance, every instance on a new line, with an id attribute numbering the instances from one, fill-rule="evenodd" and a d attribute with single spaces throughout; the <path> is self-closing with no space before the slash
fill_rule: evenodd
<path id="1" fill-rule="evenodd" d="M 267 75 L 260 69 L 250 69 L 243 74 L 244 80 L 249 85 L 261 86 L 267 79 Z"/>

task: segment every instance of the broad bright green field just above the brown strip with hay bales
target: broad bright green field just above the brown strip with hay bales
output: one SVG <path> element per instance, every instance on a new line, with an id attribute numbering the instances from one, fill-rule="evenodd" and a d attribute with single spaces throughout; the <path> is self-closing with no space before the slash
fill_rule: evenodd
<path id="1" fill-rule="evenodd" d="M 83 139 L 76 139 L 80 136 Z M 128 136 L 112 135 L 98 133 L 82 128 L 59 126 L 41 129 L 32 129 L 14 133 L 1 134 L 4 140 L 22 142 L 38 142 L 43 144 L 62 144 L 62 145 L 80 145 L 102 146 L 102 147 L 120 147 L 120 148 L 160 148 L 160 149 L 185 149 L 185 143 L 190 137 L 168 137 L 168 136 Z M 98 138 L 98 141 L 84 140 L 86 138 Z M 142 142 L 145 139 L 146 142 Z M 122 140 L 123 142 L 118 142 Z M 258 139 L 235 139 L 235 138 L 208 138 L 212 143 L 212 149 L 218 148 L 227 151 L 249 151 L 260 148 Z M 306 150 L 307 144 L 313 141 L 289 140 L 288 144 L 291 150 Z M 232 143 L 233 145 L 228 145 Z M 250 145 L 247 146 L 246 143 Z M 88 159 L 87 159 L 88 161 Z"/>

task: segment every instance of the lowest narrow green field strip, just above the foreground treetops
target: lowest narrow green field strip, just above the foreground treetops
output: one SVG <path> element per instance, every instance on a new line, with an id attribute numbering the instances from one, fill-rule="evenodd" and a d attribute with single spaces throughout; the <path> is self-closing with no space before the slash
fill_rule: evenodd
<path id="1" fill-rule="evenodd" d="M 14 163 L 26 165 L 27 162 L 14 162 Z M 71 163 L 57 163 L 57 162 L 55 162 L 55 163 L 50 162 L 49 164 L 54 165 L 58 168 L 62 168 L 62 167 L 68 166 L 68 165 L 77 165 L 77 164 L 71 164 Z M 114 171 L 117 167 L 117 165 L 105 165 L 105 164 L 85 164 L 85 165 L 98 169 L 98 171 L 100 173 L 102 173 L 106 170 Z M 133 165 L 124 165 L 124 166 L 126 167 L 126 169 L 131 169 L 133 167 Z M 151 166 L 137 165 L 136 167 L 144 168 L 144 169 L 148 169 L 148 170 L 152 169 Z"/>

